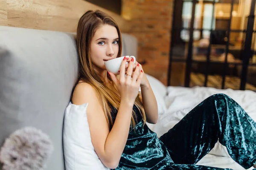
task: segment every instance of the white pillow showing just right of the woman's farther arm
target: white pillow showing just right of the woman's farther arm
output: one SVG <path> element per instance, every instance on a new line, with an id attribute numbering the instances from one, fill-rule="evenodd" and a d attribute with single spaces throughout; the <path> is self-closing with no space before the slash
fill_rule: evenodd
<path id="1" fill-rule="evenodd" d="M 154 93 L 154 96 L 157 100 L 157 108 L 158 108 L 158 114 L 164 114 L 166 113 L 166 104 L 165 104 L 165 96 L 167 93 L 167 88 L 165 85 L 163 85 L 162 82 L 160 82 L 158 79 L 146 74 L 146 77 L 148 78 L 149 84 L 152 88 L 152 91 Z"/>

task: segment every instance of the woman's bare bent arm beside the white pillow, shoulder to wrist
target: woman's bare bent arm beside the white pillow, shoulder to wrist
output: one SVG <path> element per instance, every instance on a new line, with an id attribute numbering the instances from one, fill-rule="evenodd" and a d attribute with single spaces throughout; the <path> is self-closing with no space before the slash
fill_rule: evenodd
<path id="1" fill-rule="evenodd" d="M 119 164 L 128 139 L 134 103 L 121 100 L 111 131 L 109 131 L 96 91 L 87 83 L 79 83 L 73 93 L 73 104 L 81 105 L 83 103 L 88 103 L 87 119 L 93 147 L 102 163 L 106 167 L 114 169 Z"/>

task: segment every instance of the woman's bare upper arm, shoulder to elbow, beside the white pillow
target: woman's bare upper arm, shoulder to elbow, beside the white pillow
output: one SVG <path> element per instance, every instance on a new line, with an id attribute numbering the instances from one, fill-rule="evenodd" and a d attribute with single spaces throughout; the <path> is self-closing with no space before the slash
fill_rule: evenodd
<path id="1" fill-rule="evenodd" d="M 88 103 L 87 120 L 90 130 L 91 141 L 99 158 L 105 161 L 105 142 L 109 128 L 102 105 L 96 90 L 88 83 L 80 82 L 73 92 L 72 102 L 75 105 Z"/>

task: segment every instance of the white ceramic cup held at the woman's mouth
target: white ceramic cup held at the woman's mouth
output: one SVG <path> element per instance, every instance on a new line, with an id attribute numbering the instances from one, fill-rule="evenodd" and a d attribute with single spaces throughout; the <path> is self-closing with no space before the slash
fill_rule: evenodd
<path id="1" fill-rule="evenodd" d="M 118 58 L 115 58 L 115 59 L 111 59 L 111 60 L 108 60 L 104 63 L 108 72 L 111 72 L 115 75 L 119 74 L 118 71 L 120 69 L 120 66 L 121 66 L 121 63 L 122 63 L 122 60 L 124 59 L 124 57 L 133 58 L 134 59 L 134 64 L 135 64 L 136 58 L 134 56 L 123 56 L 123 57 L 118 57 Z M 129 64 L 129 62 L 126 62 L 126 64 Z"/>

